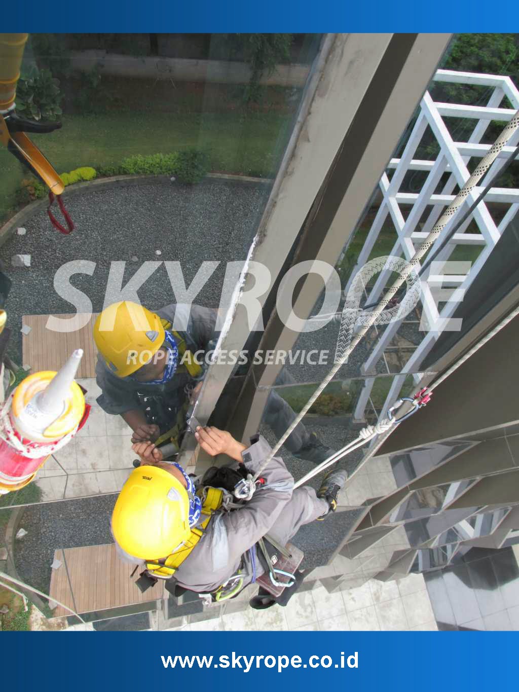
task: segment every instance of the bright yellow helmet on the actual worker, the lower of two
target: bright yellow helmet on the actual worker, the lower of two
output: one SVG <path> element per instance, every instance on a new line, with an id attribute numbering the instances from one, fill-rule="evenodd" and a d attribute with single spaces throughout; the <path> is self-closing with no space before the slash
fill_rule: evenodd
<path id="1" fill-rule="evenodd" d="M 158 466 L 139 466 L 122 486 L 111 517 L 113 538 L 142 560 L 170 555 L 191 534 L 189 495 Z"/>

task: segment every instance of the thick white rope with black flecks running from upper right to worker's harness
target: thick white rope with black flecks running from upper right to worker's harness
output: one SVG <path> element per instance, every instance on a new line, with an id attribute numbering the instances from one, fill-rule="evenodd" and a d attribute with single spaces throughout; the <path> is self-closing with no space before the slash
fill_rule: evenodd
<path id="1" fill-rule="evenodd" d="M 466 181 L 464 186 L 462 187 L 461 190 L 459 190 L 458 194 L 456 195 L 455 199 L 449 204 L 449 206 L 446 208 L 444 213 L 441 215 L 435 226 L 432 228 L 430 231 L 429 235 L 426 237 L 424 242 L 419 246 L 417 249 L 414 257 L 406 264 L 406 266 L 403 268 L 401 271 L 399 277 L 397 280 L 394 281 L 392 286 L 390 286 L 390 289 L 385 293 L 379 304 L 374 308 L 374 310 L 371 313 L 370 318 L 367 319 L 365 324 L 359 329 L 359 331 L 355 334 L 355 336 L 352 338 L 351 343 L 349 344 L 349 347 L 345 349 L 345 352 L 343 355 L 338 359 L 338 361 L 335 363 L 334 367 L 331 368 L 330 372 L 327 374 L 325 379 L 322 380 L 318 388 L 316 389 L 315 392 L 313 392 L 312 396 L 310 399 L 307 401 L 307 403 L 303 406 L 302 410 L 300 410 L 299 414 L 295 417 L 295 419 L 292 421 L 291 425 L 285 430 L 284 434 L 280 439 L 277 441 L 277 444 L 274 446 L 273 450 L 271 450 L 271 453 L 266 457 L 265 461 L 263 464 L 260 466 L 258 471 L 255 473 L 254 479 L 257 480 L 258 477 L 260 477 L 260 474 L 264 470 L 264 468 L 271 462 L 271 459 L 275 457 L 277 452 L 280 450 L 286 439 L 291 435 L 293 430 L 300 424 L 300 421 L 304 418 L 304 416 L 307 414 L 313 403 L 320 397 L 320 394 L 325 390 L 327 385 L 331 382 L 331 380 L 334 378 L 334 376 L 338 373 L 341 367 L 345 363 L 347 363 L 347 360 L 349 356 L 352 354 L 354 349 L 358 346 L 358 344 L 361 342 L 361 340 L 364 338 L 364 336 L 367 334 L 367 331 L 369 331 L 370 327 L 372 327 L 381 313 L 383 312 L 383 309 L 388 305 L 390 300 L 396 295 L 397 291 L 399 288 L 402 286 L 404 282 L 406 282 L 408 276 L 412 273 L 414 273 L 417 268 L 419 268 L 420 260 L 424 255 L 427 253 L 428 249 L 432 246 L 432 244 L 435 243 L 436 239 L 439 237 L 441 234 L 441 231 L 444 230 L 446 225 L 451 221 L 453 216 L 456 214 L 457 210 L 464 204 L 466 199 L 468 198 L 468 195 L 471 194 L 472 190 L 477 186 L 477 183 L 482 179 L 484 174 L 486 173 L 487 170 L 491 167 L 492 163 L 495 161 L 496 158 L 498 158 L 499 153 L 501 152 L 502 148 L 507 144 L 508 140 L 511 138 L 513 133 L 519 128 L 519 111 L 516 112 L 516 114 L 511 118 L 511 120 L 507 123 L 506 127 L 504 127 L 502 133 L 500 136 L 495 140 L 495 143 L 491 146 L 489 149 L 489 152 L 482 158 L 480 161 L 479 165 L 475 168 L 473 174 L 469 177 L 469 179 Z M 348 327 L 346 327 L 348 328 Z M 342 327 L 341 327 L 342 329 Z"/>

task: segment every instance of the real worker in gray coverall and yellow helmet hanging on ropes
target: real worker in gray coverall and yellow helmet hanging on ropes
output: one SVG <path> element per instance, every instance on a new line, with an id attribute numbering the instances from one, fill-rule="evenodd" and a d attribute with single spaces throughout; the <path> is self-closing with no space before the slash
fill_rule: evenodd
<path id="1" fill-rule="evenodd" d="M 258 542 L 268 534 L 267 541 L 285 546 L 302 525 L 325 518 L 336 509 L 347 473 L 329 472 L 317 493 L 309 486 L 293 491 L 293 477 L 283 460 L 273 457 L 262 470 L 252 499 L 237 505 L 230 492 L 237 479 L 255 473 L 271 448 L 261 436 L 246 447 L 214 427 L 198 426 L 195 435 L 209 455 L 223 453 L 233 462 L 212 467 L 201 480 L 193 480 L 179 464 L 165 462 L 152 442 L 134 444 L 141 465 L 122 487 L 111 530 L 120 555 L 145 564 L 140 588 L 165 579 L 167 590 L 177 595 L 175 590 L 181 588 L 222 601 L 253 581 L 261 584 L 268 570 L 273 574 Z M 251 601 L 255 608 L 275 602 L 268 589 L 255 598 L 260 599 Z"/>

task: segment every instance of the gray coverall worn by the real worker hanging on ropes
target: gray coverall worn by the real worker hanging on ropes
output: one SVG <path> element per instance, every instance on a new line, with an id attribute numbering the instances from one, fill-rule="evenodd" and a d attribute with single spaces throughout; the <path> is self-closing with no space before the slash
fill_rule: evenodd
<path id="1" fill-rule="evenodd" d="M 242 457 L 251 473 L 255 473 L 270 453 L 271 447 L 260 436 L 248 447 Z M 237 462 L 230 464 L 237 468 Z M 298 529 L 327 513 L 326 500 L 316 491 L 303 486 L 293 491 L 293 477 L 281 457 L 274 457 L 262 471 L 265 484 L 240 509 L 227 512 L 218 510 L 192 549 L 188 558 L 176 570 L 174 579 L 183 588 L 195 592 L 215 591 L 235 574 L 240 563 L 244 569 L 244 585 L 251 582 L 251 556 L 248 553 L 257 541 L 270 534 L 278 543 L 286 545 Z M 118 552 L 129 561 L 127 554 Z M 263 574 L 260 562 L 255 560 L 256 576 Z"/>

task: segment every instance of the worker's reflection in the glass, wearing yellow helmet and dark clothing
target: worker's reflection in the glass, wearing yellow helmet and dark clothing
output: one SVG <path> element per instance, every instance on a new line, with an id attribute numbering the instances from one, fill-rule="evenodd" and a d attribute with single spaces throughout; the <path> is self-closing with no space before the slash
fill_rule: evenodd
<path id="1" fill-rule="evenodd" d="M 187 325 L 184 331 L 173 329 L 175 315 Z M 206 372 L 204 356 L 216 343 L 216 320 L 217 311 L 201 305 L 170 304 L 152 312 L 128 300 L 109 305 L 95 320 L 95 374 L 102 390 L 98 403 L 127 422 L 133 443 L 172 441 L 180 446 L 190 399 Z M 276 384 L 288 383 L 291 376 L 284 368 Z M 265 422 L 277 438 L 294 418 L 289 404 L 272 390 Z M 285 447 L 314 464 L 332 453 L 303 424 Z"/>

